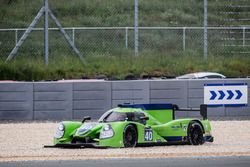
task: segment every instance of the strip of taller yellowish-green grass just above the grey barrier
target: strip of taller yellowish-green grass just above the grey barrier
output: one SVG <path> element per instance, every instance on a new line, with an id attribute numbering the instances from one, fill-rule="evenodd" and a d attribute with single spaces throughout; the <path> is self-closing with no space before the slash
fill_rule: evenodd
<path id="1" fill-rule="evenodd" d="M 6 64 L 0 62 L 1 80 L 59 80 L 95 78 L 105 75 L 108 78 L 124 79 L 127 74 L 140 78 L 142 74 L 153 76 L 176 76 L 196 71 L 214 71 L 228 77 L 250 74 L 249 57 L 213 57 L 204 61 L 200 56 L 142 55 L 140 57 L 95 55 L 86 58 L 82 64 L 75 57 L 51 60 L 46 67 L 42 57 L 16 60 Z"/>

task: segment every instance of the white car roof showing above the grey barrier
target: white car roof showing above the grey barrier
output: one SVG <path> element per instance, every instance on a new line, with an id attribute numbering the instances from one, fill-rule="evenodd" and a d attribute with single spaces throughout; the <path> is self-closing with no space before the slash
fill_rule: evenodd
<path id="1" fill-rule="evenodd" d="M 197 72 L 185 74 L 176 79 L 225 79 L 226 76 L 215 72 Z"/>

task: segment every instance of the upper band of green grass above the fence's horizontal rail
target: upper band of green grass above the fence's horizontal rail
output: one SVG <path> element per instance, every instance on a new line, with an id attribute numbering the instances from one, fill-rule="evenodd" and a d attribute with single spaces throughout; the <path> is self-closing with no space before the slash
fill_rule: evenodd
<path id="1" fill-rule="evenodd" d="M 27 27 L 42 3 L 43 0 L 13 0 L 7 4 L 0 0 L 0 27 Z M 219 12 L 226 10 L 223 5 L 228 3 L 229 0 L 209 0 L 210 25 L 223 24 Z M 134 0 L 49 0 L 49 5 L 65 27 L 134 25 Z M 52 22 L 50 25 L 54 26 Z M 202 26 L 203 0 L 139 0 L 139 25 Z"/>

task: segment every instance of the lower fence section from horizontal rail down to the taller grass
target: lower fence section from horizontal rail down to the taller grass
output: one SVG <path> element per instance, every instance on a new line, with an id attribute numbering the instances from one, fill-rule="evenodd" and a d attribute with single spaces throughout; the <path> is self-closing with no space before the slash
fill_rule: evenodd
<path id="1" fill-rule="evenodd" d="M 64 28 L 74 45 L 87 55 L 134 54 L 134 27 Z M 203 27 L 139 27 L 139 52 L 203 55 Z M 6 59 L 26 29 L 0 29 L 1 58 Z M 50 28 L 50 56 L 72 54 L 57 28 Z M 250 27 L 208 27 L 208 54 L 249 54 Z M 35 28 L 19 54 L 43 55 L 43 28 Z"/>

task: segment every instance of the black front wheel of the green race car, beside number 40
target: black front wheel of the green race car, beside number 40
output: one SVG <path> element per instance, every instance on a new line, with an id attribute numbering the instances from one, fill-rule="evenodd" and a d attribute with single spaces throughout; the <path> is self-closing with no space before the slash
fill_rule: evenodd
<path id="1" fill-rule="evenodd" d="M 124 147 L 135 147 L 137 143 L 137 130 L 133 125 L 127 125 L 123 131 Z"/>

